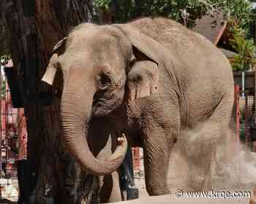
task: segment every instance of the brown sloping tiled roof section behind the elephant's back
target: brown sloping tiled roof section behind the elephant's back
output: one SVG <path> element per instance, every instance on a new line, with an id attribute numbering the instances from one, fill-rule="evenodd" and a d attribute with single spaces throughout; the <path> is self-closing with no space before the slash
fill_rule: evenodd
<path id="1" fill-rule="evenodd" d="M 205 15 L 200 19 L 197 19 L 192 31 L 205 36 L 212 43 L 217 44 L 225 31 L 226 26 L 227 21 L 222 12 L 214 12 L 213 15 Z"/>

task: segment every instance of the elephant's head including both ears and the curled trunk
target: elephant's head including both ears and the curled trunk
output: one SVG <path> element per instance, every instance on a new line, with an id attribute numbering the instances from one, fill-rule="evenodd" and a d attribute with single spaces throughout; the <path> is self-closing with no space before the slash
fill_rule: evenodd
<path id="1" fill-rule="evenodd" d="M 123 106 L 127 93 L 131 100 L 153 93 L 159 59 L 151 47 L 158 47 L 156 43 L 129 27 L 84 23 L 55 47 L 42 81 L 52 84 L 56 68 L 61 69 L 64 139 L 89 173 L 105 175 L 121 165 L 127 150 L 126 138 L 119 138 L 119 146 L 110 158 L 97 160 L 88 145 L 89 121 L 91 117 L 107 117 Z"/>

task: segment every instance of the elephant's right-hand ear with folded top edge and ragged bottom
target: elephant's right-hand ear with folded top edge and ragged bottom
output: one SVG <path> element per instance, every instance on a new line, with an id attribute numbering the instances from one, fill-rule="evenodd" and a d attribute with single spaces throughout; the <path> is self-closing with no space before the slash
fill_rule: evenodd
<path id="1" fill-rule="evenodd" d="M 166 48 L 132 26 L 116 26 L 132 43 L 132 64 L 128 71 L 129 100 L 157 93 L 159 64 L 162 63 L 159 50 Z"/>

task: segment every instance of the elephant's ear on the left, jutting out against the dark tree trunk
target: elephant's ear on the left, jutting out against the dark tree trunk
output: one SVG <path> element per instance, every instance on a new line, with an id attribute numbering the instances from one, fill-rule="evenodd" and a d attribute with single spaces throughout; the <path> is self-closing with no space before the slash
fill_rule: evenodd
<path id="1" fill-rule="evenodd" d="M 53 53 L 49 60 L 48 67 L 46 68 L 45 74 L 41 79 L 42 82 L 46 82 L 48 85 L 53 85 L 53 80 L 56 76 L 56 71 L 59 66 L 59 55 L 64 52 L 66 41 L 67 37 L 61 39 L 61 41 L 53 47 Z"/>

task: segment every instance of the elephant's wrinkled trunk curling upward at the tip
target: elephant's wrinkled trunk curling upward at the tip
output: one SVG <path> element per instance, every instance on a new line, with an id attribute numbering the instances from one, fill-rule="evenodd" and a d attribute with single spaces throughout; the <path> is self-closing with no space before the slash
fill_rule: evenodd
<path id="1" fill-rule="evenodd" d="M 71 78 L 74 78 L 74 80 Z M 64 141 L 83 170 L 97 176 L 106 175 L 116 170 L 123 162 L 127 152 L 127 139 L 124 136 L 118 138 L 118 147 L 107 160 L 97 160 L 94 157 L 88 145 L 88 127 L 93 96 L 96 90 L 84 85 L 84 81 L 81 82 L 83 86 L 74 86 L 74 82 L 78 81 L 78 78 L 69 76 L 69 82 L 71 83 L 67 82 L 64 85 L 61 98 Z"/>

